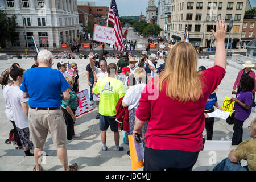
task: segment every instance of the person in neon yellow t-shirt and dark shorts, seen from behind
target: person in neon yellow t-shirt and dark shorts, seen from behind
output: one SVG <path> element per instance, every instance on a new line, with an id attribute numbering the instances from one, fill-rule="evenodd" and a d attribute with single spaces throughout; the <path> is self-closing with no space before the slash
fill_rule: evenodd
<path id="1" fill-rule="evenodd" d="M 117 65 L 110 63 L 107 67 L 108 77 L 96 80 L 96 85 L 92 91 L 93 94 L 101 95 L 99 113 L 102 150 L 108 150 L 108 147 L 106 147 L 106 130 L 109 126 L 111 131 L 114 132 L 115 150 L 123 150 L 123 147 L 119 147 L 120 135 L 115 121 L 115 115 L 117 114 L 115 106 L 119 99 L 125 96 L 125 89 L 123 83 L 114 78 L 116 71 Z"/>

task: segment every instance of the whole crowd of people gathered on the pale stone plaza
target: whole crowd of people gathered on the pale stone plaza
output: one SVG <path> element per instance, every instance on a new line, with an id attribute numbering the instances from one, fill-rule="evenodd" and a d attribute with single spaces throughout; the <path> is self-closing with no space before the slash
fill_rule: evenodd
<path id="1" fill-rule="evenodd" d="M 192 44 L 180 41 L 167 52 L 164 64 L 156 65 L 158 53 L 141 52 L 141 59 L 129 57 L 123 52 L 115 63 L 107 63 L 108 51 L 98 59 L 89 53 L 86 66 L 90 101 L 97 105 L 101 150 L 109 150 L 106 131 L 114 133 L 115 150 L 120 146 L 119 131 L 124 130 L 125 143 L 129 134 L 139 134 L 144 147 L 144 170 L 188 171 L 195 165 L 203 149 L 203 131 L 207 139 L 213 138 L 214 118 L 208 113 L 223 110 L 217 102 L 218 85 L 226 74 L 224 22 L 216 23 L 212 30 L 216 41 L 214 66 L 197 69 L 197 53 Z M 165 52 L 166 53 L 166 52 Z M 15 142 L 22 146 L 26 155 L 33 155 L 35 167 L 41 170 L 39 152 L 43 151 L 48 131 L 64 170 L 77 170 L 77 164 L 68 165 L 66 144 L 75 137 L 75 110 L 79 92 L 79 72 L 76 63 L 71 63 L 75 73 L 67 73 L 67 63 L 59 61 L 58 69 L 51 69 L 52 53 L 42 50 L 35 57 L 33 68 L 20 68 L 14 64 L 1 75 L 5 89 L 6 115 L 16 127 Z M 214 170 L 256 170 L 256 118 L 249 127 L 252 140 L 242 140 L 243 122 L 249 118 L 255 92 L 254 65 L 243 64 L 238 73 L 232 94 L 236 94 L 234 108 L 234 133 L 232 144 L 238 145 L 229 157 Z M 11 78 L 9 78 L 9 75 Z M 44 83 L 44 84 L 42 84 Z M 10 114 L 10 110 L 13 112 Z M 167 114 L 168 113 L 168 114 Z M 19 142 L 20 140 L 20 142 Z M 130 151 L 127 151 L 130 156 Z M 238 162 L 247 159 L 248 167 Z"/>

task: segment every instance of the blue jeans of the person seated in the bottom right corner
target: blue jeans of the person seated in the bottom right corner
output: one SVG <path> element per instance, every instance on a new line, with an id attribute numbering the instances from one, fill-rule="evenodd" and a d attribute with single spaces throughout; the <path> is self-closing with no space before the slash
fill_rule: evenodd
<path id="1" fill-rule="evenodd" d="M 232 163 L 229 158 L 225 158 L 213 168 L 213 171 L 248 171 L 248 166 L 242 167 L 239 163 Z"/>

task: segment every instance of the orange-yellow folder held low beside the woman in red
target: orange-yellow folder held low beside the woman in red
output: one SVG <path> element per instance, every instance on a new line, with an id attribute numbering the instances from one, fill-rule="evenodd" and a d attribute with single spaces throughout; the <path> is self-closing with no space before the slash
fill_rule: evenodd
<path id="1" fill-rule="evenodd" d="M 131 155 L 131 169 L 132 170 L 138 169 L 138 168 L 141 168 L 141 167 L 144 166 L 143 160 L 140 160 L 139 162 L 137 160 L 137 155 L 136 155 L 136 151 L 135 151 L 133 136 L 134 135 L 128 135 L 130 155 Z"/>

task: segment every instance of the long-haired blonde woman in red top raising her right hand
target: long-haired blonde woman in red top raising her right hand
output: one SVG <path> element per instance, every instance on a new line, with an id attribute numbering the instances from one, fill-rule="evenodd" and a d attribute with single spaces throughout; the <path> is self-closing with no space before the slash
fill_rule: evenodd
<path id="1" fill-rule="evenodd" d="M 142 91 L 133 134 L 148 121 L 144 170 L 192 170 L 202 146 L 204 107 L 225 76 L 224 22 L 216 23 L 214 67 L 197 72 L 197 53 L 180 41 L 170 50 L 163 75 Z"/>

